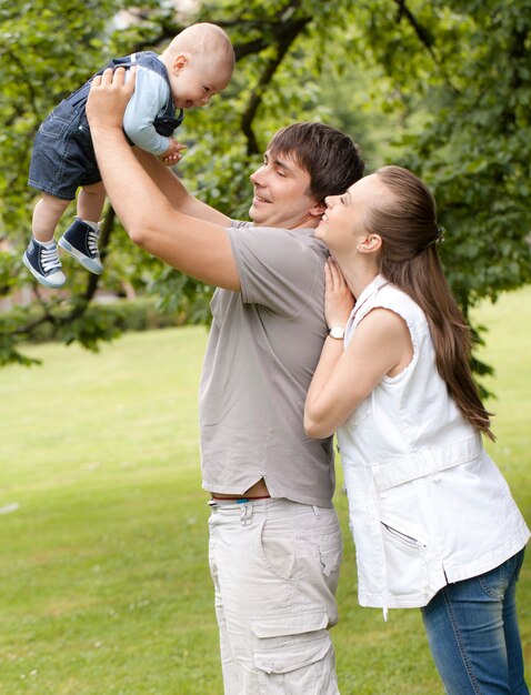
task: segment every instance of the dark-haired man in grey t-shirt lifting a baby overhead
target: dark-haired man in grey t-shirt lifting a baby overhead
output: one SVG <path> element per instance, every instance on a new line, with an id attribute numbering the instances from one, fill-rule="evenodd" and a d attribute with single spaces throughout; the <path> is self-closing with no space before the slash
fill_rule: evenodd
<path id="1" fill-rule="evenodd" d="M 303 431 L 304 399 L 328 326 L 327 252 L 313 239 L 324 198 L 361 178 L 357 145 L 321 123 L 279 131 L 251 175 L 254 224 L 190 195 L 129 148 L 133 80 L 94 80 L 87 113 L 106 190 L 134 243 L 218 286 L 200 387 L 210 566 L 227 695 L 338 691 L 328 628 L 341 534 L 331 440 Z M 138 158 L 138 159 L 137 159 Z"/>

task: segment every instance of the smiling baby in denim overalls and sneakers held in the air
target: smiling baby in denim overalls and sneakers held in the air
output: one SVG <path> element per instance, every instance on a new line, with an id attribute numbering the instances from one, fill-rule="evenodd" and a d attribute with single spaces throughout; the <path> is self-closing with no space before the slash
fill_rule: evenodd
<path id="1" fill-rule="evenodd" d="M 183 149 L 172 139 L 184 118 L 183 109 L 207 105 L 228 85 L 234 51 L 222 29 L 203 22 L 181 31 L 160 56 L 132 53 L 112 60 L 98 74 L 120 66 L 137 66 L 134 93 L 123 117 L 130 143 L 171 164 L 179 161 Z M 47 288 L 60 288 L 66 281 L 54 232 L 79 187 L 78 216 L 58 244 L 90 272 L 103 271 L 98 222 L 106 191 L 86 115 L 90 84 L 91 80 L 48 115 L 33 144 L 29 184 L 42 191 L 42 198 L 33 210 L 33 235 L 22 260 Z"/>

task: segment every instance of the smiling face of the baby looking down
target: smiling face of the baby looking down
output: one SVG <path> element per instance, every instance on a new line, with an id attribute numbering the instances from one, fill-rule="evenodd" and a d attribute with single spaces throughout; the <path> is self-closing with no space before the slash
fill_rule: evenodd
<path id="1" fill-rule="evenodd" d="M 206 107 L 213 94 L 221 92 L 231 78 L 229 67 L 214 60 L 191 57 L 186 66 L 170 73 L 171 95 L 178 109 Z"/>

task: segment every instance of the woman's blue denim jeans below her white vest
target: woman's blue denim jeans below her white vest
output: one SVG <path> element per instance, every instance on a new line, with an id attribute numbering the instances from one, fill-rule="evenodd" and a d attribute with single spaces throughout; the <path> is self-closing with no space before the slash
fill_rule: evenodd
<path id="1" fill-rule="evenodd" d="M 421 608 L 448 695 L 529 695 L 517 622 L 523 550 L 499 567 L 448 584 Z"/>

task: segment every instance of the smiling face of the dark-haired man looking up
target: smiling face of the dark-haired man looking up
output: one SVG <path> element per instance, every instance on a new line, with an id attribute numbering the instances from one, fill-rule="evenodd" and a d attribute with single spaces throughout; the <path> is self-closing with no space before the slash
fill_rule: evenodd
<path id="1" fill-rule="evenodd" d="M 317 226 L 324 205 L 308 194 L 310 174 L 292 158 L 269 150 L 253 174 L 254 197 L 249 215 L 257 226 Z"/>

